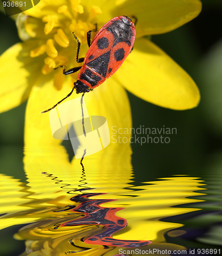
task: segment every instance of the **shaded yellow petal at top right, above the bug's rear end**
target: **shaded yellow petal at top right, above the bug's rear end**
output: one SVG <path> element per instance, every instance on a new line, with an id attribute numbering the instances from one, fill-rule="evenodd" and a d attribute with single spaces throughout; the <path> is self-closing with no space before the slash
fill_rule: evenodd
<path id="1" fill-rule="evenodd" d="M 137 18 L 136 35 L 161 34 L 189 22 L 201 12 L 199 0 L 127 0 L 113 10 L 119 15 Z"/>

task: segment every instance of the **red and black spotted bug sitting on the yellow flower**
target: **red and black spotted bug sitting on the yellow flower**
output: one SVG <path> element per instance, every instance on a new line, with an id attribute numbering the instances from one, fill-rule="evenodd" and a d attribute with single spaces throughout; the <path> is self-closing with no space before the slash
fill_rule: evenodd
<path id="1" fill-rule="evenodd" d="M 69 97 L 74 89 L 76 89 L 77 93 L 84 94 L 99 86 L 117 71 L 132 51 L 136 32 L 131 18 L 119 16 L 109 20 L 98 31 L 90 44 L 91 32 L 95 31 L 96 29 L 90 30 L 87 33 L 89 50 L 85 58 L 79 58 L 80 41 L 73 33 L 78 42 L 77 62 L 83 62 L 83 66 L 67 71 L 65 71 L 65 67 L 63 66 L 63 74 L 65 75 L 80 70 L 77 81 L 74 82 L 74 87 L 64 99 Z M 60 100 L 53 108 L 45 110 L 42 113 L 54 109 L 64 99 Z"/>

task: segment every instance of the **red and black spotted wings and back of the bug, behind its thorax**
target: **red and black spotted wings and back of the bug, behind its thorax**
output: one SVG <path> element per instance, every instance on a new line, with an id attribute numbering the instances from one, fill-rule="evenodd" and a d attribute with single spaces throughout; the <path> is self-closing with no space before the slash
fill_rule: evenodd
<path id="1" fill-rule="evenodd" d="M 129 23 L 122 22 L 121 19 Z M 84 65 L 109 78 L 131 52 L 135 40 L 134 24 L 125 16 L 109 20 L 92 40 Z"/>

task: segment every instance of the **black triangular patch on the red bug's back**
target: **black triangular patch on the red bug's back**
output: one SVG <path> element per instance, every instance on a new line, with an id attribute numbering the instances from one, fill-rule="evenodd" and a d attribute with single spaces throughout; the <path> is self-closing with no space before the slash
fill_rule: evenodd
<path id="1" fill-rule="evenodd" d="M 106 77 L 110 60 L 110 53 L 111 51 L 108 51 L 102 54 L 101 56 L 97 57 L 96 59 L 93 59 L 91 62 L 87 63 L 87 66 L 92 68 L 94 71 L 96 71 L 103 77 Z"/>

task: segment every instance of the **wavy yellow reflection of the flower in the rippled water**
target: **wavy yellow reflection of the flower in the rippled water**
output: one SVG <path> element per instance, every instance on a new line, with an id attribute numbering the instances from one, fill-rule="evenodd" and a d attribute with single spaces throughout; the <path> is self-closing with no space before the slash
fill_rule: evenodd
<path id="1" fill-rule="evenodd" d="M 44 154 L 37 159 L 38 162 L 41 158 L 44 158 Z M 129 184 L 132 179 L 132 172 L 129 169 L 118 169 L 121 176 L 115 178 L 115 182 L 110 182 L 113 180 L 114 172 L 101 168 L 100 173 L 103 173 L 101 179 L 95 176 L 96 172 L 89 170 L 85 177 L 87 184 L 81 185 L 81 182 L 77 182 L 78 175 L 75 177 L 71 166 L 65 166 L 66 173 L 61 168 L 60 172 L 55 170 L 55 173 L 60 174 L 59 178 L 55 178 L 55 175 L 48 177 L 42 174 L 40 179 L 38 173 L 32 172 L 36 168 L 36 163 L 33 159 L 30 159 L 29 162 L 30 170 L 27 170 L 29 186 L 4 175 L 1 175 L 0 179 L 0 195 L 4 194 L 0 212 L 7 212 L 7 215 L 0 218 L 1 227 L 32 223 L 23 226 L 14 236 L 19 240 L 27 240 L 27 250 L 22 255 L 65 256 L 65 251 L 69 250 L 79 253 L 83 250 L 82 253 L 86 256 L 117 254 L 120 247 L 111 246 L 105 249 L 101 245 L 86 244 L 81 240 L 83 237 L 87 238 L 98 234 L 98 232 L 103 232 L 102 224 L 97 226 L 84 224 L 83 222 L 83 225 L 79 226 L 60 225 L 82 217 L 83 212 L 72 211 L 69 207 L 70 205 L 78 206 L 78 203 L 69 200 L 70 197 L 81 193 L 103 193 L 105 190 L 107 193 L 104 195 L 93 196 L 93 200 L 97 200 L 96 205 L 100 200 L 105 202 L 108 199 L 108 202 L 101 203 L 101 206 L 107 209 L 122 207 L 123 209 L 117 211 L 116 214 L 119 217 L 126 218 L 128 222 L 128 228 L 114 233 L 114 239 L 152 240 L 152 244 L 141 247 L 143 250 L 152 250 L 153 248 L 164 250 L 167 248 L 171 251 L 185 249 L 183 246 L 174 243 L 166 243 L 164 238 L 164 234 L 169 230 L 172 230 L 170 232 L 174 232 L 174 235 L 178 234 L 180 236 L 182 232 L 185 232 L 183 231 L 183 224 L 162 221 L 162 218 L 198 210 L 198 208 L 193 208 L 193 205 L 189 205 L 189 203 L 202 201 L 192 198 L 193 196 L 203 195 L 201 190 L 205 189 L 199 187 L 204 184 L 198 177 L 173 176 L 134 186 Z M 54 162 L 59 166 L 65 163 L 63 159 L 61 161 L 54 159 Z M 40 163 L 40 166 L 45 169 L 48 168 L 45 163 Z M 59 179 L 62 181 L 59 182 Z M 72 184 L 65 186 L 65 183 L 69 180 Z M 44 187 L 44 190 L 42 187 Z M 79 190 L 72 190 L 72 194 L 65 193 L 74 187 L 79 188 Z M 80 189 L 87 187 L 93 187 L 93 189 L 80 191 Z M 109 199 L 118 200 L 112 201 Z M 181 204 L 187 205 L 181 206 Z M 86 209 L 90 210 L 87 205 L 85 205 Z M 94 211 L 93 207 L 91 211 Z M 96 220 L 95 215 L 94 218 Z M 58 228 L 55 228 L 55 226 Z M 178 230 L 178 228 L 180 229 Z M 69 243 L 70 240 L 75 246 Z M 88 250 L 83 248 L 88 248 Z M 110 250 L 112 253 L 109 252 Z"/>

